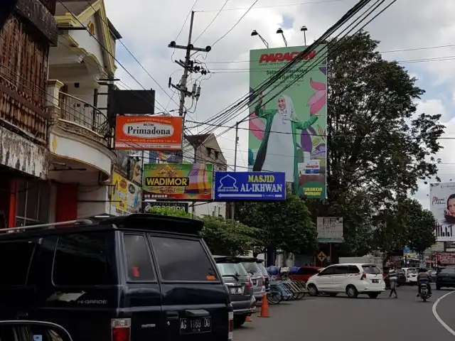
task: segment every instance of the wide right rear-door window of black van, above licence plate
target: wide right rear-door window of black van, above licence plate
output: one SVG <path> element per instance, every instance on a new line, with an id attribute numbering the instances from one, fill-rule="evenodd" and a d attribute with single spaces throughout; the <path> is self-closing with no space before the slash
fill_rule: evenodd
<path id="1" fill-rule="evenodd" d="M 156 261 L 164 281 L 214 281 L 208 254 L 199 240 L 151 237 Z"/>

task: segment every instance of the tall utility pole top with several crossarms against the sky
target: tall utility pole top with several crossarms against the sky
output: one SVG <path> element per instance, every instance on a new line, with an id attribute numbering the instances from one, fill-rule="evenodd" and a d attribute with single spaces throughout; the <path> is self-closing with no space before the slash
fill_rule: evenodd
<path id="1" fill-rule="evenodd" d="M 171 41 L 168 45 L 168 48 L 178 48 L 180 50 L 186 50 L 185 61 L 176 60 L 175 62 L 183 67 L 183 76 L 181 77 L 181 81 L 177 85 L 172 84 L 172 79 L 169 77 L 169 87 L 173 87 L 178 92 L 180 92 L 180 103 L 178 104 L 178 114 L 183 117 L 184 110 L 185 110 L 185 99 L 186 97 L 193 97 L 196 98 L 196 101 L 199 99 L 200 96 L 200 87 L 196 88 L 196 85 L 193 85 L 193 90 L 188 91 L 186 87 L 186 82 L 188 81 L 188 75 L 190 72 L 200 72 L 202 75 L 207 74 L 208 70 L 205 70 L 203 67 L 195 66 L 193 61 L 191 60 L 191 52 L 192 51 L 199 51 L 199 52 L 210 52 L 212 48 L 210 46 L 206 46 L 205 48 L 195 48 L 193 44 L 191 44 L 191 35 L 193 34 L 193 23 L 194 23 L 194 11 L 191 12 L 191 21 L 190 21 L 190 33 L 188 35 L 188 45 L 177 45 L 175 41 Z"/>

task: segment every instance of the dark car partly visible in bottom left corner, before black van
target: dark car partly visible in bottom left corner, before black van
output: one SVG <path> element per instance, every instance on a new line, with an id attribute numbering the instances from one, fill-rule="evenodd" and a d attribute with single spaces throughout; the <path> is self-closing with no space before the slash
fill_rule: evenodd
<path id="1" fill-rule="evenodd" d="M 0 321 L 0 340 L 3 341 L 73 341 L 61 325 L 43 321 Z"/>

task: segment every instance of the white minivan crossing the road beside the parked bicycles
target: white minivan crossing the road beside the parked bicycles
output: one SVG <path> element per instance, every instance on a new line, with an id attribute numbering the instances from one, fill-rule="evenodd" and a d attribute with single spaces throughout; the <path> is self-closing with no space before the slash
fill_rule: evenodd
<path id="1" fill-rule="evenodd" d="M 311 296 L 326 293 L 336 296 L 346 293 L 355 298 L 359 293 L 365 293 L 370 298 L 377 298 L 385 291 L 385 282 L 382 271 L 376 264 L 333 264 L 311 276 L 306 282 Z"/>

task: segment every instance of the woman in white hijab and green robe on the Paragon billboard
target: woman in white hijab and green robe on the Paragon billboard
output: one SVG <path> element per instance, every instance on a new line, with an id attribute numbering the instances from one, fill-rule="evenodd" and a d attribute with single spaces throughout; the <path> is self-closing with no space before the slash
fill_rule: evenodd
<path id="1" fill-rule="evenodd" d="M 293 183 L 294 193 L 301 195 L 299 188 L 299 158 L 297 153 L 297 129 L 306 130 L 317 120 L 311 116 L 308 121 L 299 121 L 294 114 L 294 105 L 287 95 L 278 98 L 279 109 L 255 107 L 257 117 L 266 120 L 264 137 L 257 150 L 253 171 L 283 172 L 287 183 Z"/>

